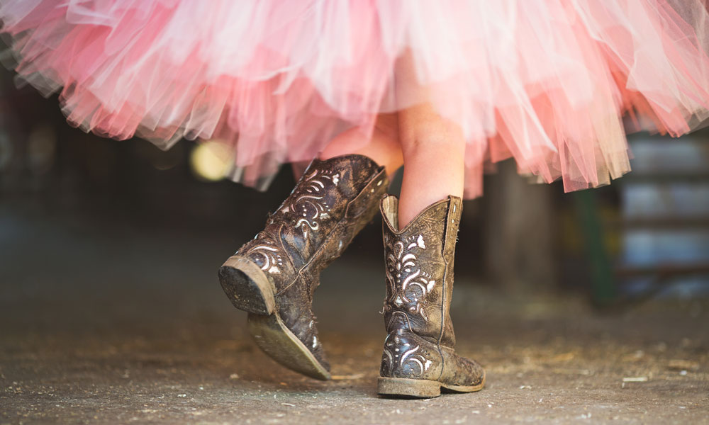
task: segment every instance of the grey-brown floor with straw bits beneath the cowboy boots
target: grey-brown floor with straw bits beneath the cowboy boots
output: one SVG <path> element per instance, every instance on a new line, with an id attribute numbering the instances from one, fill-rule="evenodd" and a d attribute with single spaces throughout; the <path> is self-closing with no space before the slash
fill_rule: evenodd
<path id="1" fill-rule="evenodd" d="M 707 300 L 601 314 L 459 281 L 458 350 L 487 387 L 382 399 L 379 251 L 323 276 L 319 382 L 262 355 L 221 293 L 241 238 L 108 224 L 0 208 L 0 424 L 709 424 Z"/>

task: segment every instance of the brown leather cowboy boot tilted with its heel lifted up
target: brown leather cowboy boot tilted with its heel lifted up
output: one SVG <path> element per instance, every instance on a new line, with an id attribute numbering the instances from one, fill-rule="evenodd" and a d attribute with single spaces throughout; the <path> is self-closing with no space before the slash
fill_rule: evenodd
<path id="1" fill-rule="evenodd" d="M 314 159 L 263 231 L 219 269 L 224 292 L 249 312 L 250 333 L 275 361 L 330 379 L 313 293 L 320 271 L 372 220 L 387 186 L 384 167 L 368 157 Z"/>

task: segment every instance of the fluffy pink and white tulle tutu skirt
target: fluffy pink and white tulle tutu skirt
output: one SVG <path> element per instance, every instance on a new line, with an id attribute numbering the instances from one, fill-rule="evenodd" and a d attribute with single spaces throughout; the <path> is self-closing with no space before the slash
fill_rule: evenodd
<path id="1" fill-rule="evenodd" d="M 508 157 L 567 191 L 609 183 L 626 132 L 708 116 L 704 0 L 5 0 L 0 18 L 19 77 L 60 92 L 69 123 L 218 138 L 249 185 L 422 101 L 464 132 L 468 198 Z M 395 90 L 405 53 L 425 98 Z"/>

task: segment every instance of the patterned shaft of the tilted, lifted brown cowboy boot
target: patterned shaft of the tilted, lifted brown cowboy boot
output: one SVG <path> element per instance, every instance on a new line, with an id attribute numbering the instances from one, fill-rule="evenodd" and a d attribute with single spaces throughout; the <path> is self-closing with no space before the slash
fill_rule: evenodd
<path id="1" fill-rule="evenodd" d="M 277 277 L 277 290 L 302 275 L 311 292 L 317 274 L 372 220 L 386 187 L 384 167 L 363 155 L 313 159 L 264 230 L 237 254 Z"/>

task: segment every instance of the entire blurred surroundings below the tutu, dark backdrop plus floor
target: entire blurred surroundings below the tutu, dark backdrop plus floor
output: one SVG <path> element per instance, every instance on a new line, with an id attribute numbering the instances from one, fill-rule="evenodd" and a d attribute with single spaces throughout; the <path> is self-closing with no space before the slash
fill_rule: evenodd
<path id="1" fill-rule="evenodd" d="M 633 135 L 634 171 L 592 191 L 500 164 L 464 203 L 452 305 L 486 389 L 402 404 L 375 393 L 378 218 L 316 293 L 335 379 L 304 378 L 258 351 L 216 277 L 291 191 L 290 166 L 259 193 L 192 142 L 162 152 L 70 128 L 56 98 L 12 77 L 0 73 L 0 422 L 708 417 L 706 131 Z"/>

